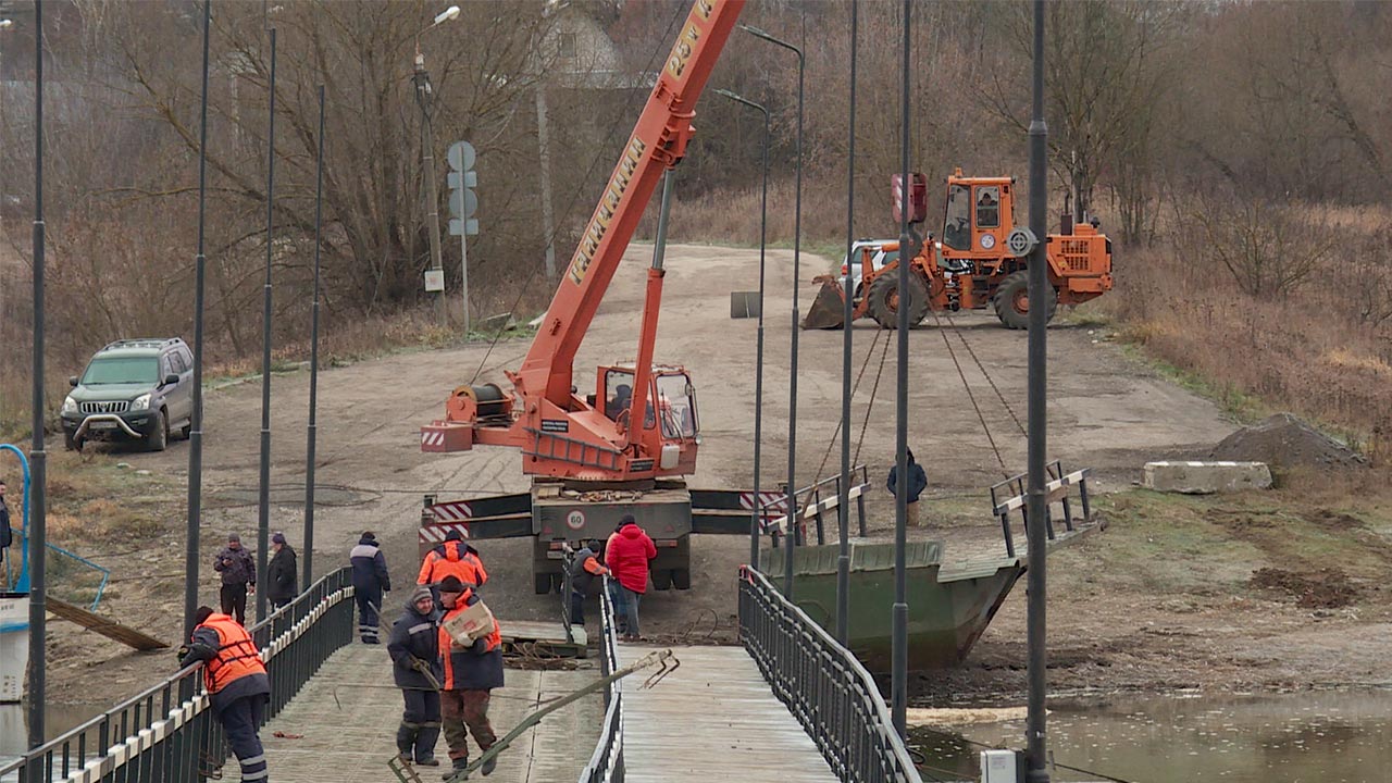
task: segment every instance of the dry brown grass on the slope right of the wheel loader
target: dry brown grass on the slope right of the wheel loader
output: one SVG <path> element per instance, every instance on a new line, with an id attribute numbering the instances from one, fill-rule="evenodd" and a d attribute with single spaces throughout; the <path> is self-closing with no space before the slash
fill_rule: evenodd
<path id="1" fill-rule="evenodd" d="M 1123 249 L 1116 290 L 1098 308 L 1148 355 L 1320 422 L 1382 461 L 1392 446 L 1392 320 L 1356 307 L 1347 258 L 1335 254 L 1285 297 L 1256 298 L 1171 248 Z M 1363 262 L 1392 268 L 1385 255 Z"/>

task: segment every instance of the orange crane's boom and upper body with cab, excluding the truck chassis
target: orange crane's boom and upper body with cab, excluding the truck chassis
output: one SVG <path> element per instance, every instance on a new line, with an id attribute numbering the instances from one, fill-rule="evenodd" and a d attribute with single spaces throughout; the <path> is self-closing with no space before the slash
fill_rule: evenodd
<path id="1" fill-rule="evenodd" d="M 695 0 L 657 84 L 614 166 L 599 206 L 543 316 L 512 390 L 461 386 L 445 418 L 420 429 L 425 451 L 475 443 L 515 446 L 523 471 L 582 482 L 689 475 L 696 468 L 696 398 L 689 373 L 653 365 L 663 270 L 649 270 L 639 364 L 601 366 L 593 397 L 574 386 L 575 354 L 665 171 L 686 155 L 696 99 L 710 78 L 745 0 Z M 599 398 L 606 403 L 597 405 Z M 629 405 L 643 415 L 629 415 Z"/>

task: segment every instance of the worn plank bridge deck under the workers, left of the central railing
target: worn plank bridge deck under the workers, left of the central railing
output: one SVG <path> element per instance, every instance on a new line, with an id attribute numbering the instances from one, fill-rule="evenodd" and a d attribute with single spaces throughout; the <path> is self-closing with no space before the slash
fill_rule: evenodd
<path id="1" fill-rule="evenodd" d="M 599 679 L 597 669 L 526 672 L 508 669 L 507 687 L 493 691 L 489 718 L 501 737 L 540 701 L 569 694 Z M 295 783 L 383 783 L 394 780 L 387 761 L 395 755 L 401 691 L 391 687 L 386 645 L 352 644 L 334 653 L 285 709 L 262 729 L 271 780 Z M 498 755 L 490 783 L 575 780 L 594 752 L 604 722 L 604 697 L 585 697 L 547 716 Z M 302 738 L 276 737 L 274 733 Z M 472 755 L 477 745 L 470 738 Z M 444 766 L 419 768 L 423 780 L 440 780 L 448 768 L 444 737 L 436 757 Z M 239 780 L 237 759 L 224 780 Z"/>

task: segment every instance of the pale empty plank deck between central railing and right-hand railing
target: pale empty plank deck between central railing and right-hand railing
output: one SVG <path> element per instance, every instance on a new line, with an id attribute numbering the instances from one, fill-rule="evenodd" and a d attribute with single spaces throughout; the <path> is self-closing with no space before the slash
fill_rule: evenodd
<path id="1" fill-rule="evenodd" d="M 653 646 L 622 645 L 621 665 Z M 681 666 L 650 690 L 622 681 L 628 783 L 834 782 L 817 745 L 742 646 L 677 646 Z"/>

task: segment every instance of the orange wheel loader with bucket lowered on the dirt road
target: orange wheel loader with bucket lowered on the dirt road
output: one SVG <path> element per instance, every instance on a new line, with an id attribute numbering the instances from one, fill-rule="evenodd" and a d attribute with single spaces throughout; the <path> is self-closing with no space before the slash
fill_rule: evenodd
<path id="1" fill-rule="evenodd" d="M 898 192 L 899 177 L 895 176 Z M 947 178 L 947 206 L 942 238 L 930 233 L 922 249 L 909 261 L 909 291 L 899 291 L 898 241 L 856 242 L 853 258 L 859 263 L 855 279 L 853 318 L 873 318 L 881 327 L 894 329 L 899 307 L 909 308 L 909 323 L 917 325 L 928 311 L 995 311 L 1008 329 L 1029 325 L 1027 258 L 1016 256 L 1006 238 L 1015 231 L 1015 178 L 963 177 L 958 169 Z M 899 199 L 895 199 L 899 212 Z M 919 226 L 927 217 L 927 178 L 910 180 L 909 223 Z M 1048 254 L 1048 318 L 1059 304 L 1076 305 L 1097 298 L 1112 288 L 1112 242 L 1098 231 L 1097 220 L 1073 226 L 1065 212 L 1058 234 L 1045 240 Z M 839 329 L 844 323 L 845 270 L 839 277 L 823 274 L 814 283 L 821 290 L 802 320 L 803 329 Z"/>

